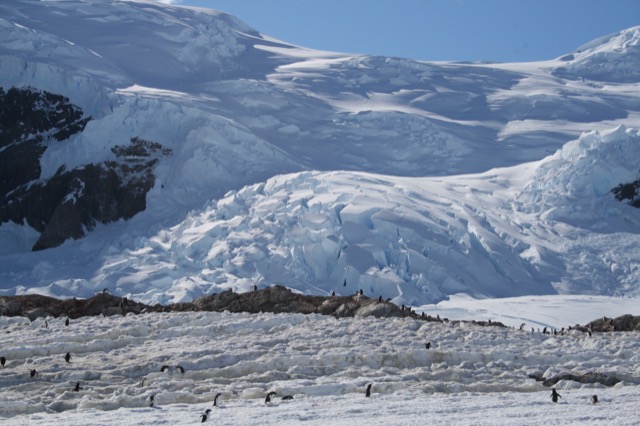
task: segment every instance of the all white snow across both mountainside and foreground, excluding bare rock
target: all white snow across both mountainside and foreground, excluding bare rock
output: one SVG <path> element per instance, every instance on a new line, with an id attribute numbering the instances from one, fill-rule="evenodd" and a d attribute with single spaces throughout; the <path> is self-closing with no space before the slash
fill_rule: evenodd
<path id="1" fill-rule="evenodd" d="M 281 284 L 510 328 L 3 316 L 0 423 L 640 424 L 637 332 L 539 332 L 640 314 L 640 210 L 611 193 L 640 179 L 639 46 L 635 27 L 544 62 L 429 63 L 153 1 L 2 2 L 0 87 L 91 117 L 47 144 L 41 179 L 132 138 L 172 154 L 128 221 L 39 252 L 28 224 L 0 224 L 1 295 L 165 304 Z M 622 381 L 561 381 L 554 404 L 529 378 L 568 372 Z"/>

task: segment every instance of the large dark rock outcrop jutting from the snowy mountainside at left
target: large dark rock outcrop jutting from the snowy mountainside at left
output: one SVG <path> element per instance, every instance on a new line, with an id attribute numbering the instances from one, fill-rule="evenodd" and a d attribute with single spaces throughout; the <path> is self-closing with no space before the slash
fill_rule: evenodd
<path id="1" fill-rule="evenodd" d="M 0 223 L 27 223 L 40 232 L 33 250 L 77 239 L 97 223 L 145 210 L 153 168 L 171 150 L 139 138 L 112 149 L 113 159 L 41 179 L 50 143 L 84 130 L 91 117 L 69 99 L 32 88 L 0 88 Z"/>

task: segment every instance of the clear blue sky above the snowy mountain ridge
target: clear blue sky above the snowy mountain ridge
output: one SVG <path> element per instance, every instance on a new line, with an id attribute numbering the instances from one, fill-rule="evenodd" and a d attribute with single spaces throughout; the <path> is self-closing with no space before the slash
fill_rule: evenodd
<path id="1" fill-rule="evenodd" d="M 640 25 L 639 0 L 173 0 L 320 50 L 418 60 L 552 59 Z"/>

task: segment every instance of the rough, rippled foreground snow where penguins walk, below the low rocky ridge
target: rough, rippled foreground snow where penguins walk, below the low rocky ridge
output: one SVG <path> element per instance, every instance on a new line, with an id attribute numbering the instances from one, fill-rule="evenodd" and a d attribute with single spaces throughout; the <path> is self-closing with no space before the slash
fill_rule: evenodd
<path id="1" fill-rule="evenodd" d="M 299 314 L 85 317 L 69 326 L 64 321 L 0 319 L 0 355 L 6 359 L 0 406 L 12 424 L 66 425 L 79 416 L 83 424 L 134 424 L 125 419 L 187 424 L 212 408 L 217 393 L 220 406 L 213 407 L 212 419 L 224 424 L 247 424 L 247 417 L 258 415 L 262 424 L 302 419 L 317 424 L 346 407 L 350 418 L 374 419 L 376 413 L 390 416 L 386 410 L 400 401 L 411 404 L 390 423 L 411 423 L 426 412 L 430 423 L 445 424 L 454 415 L 445 407 L 462 416 L 495 398 L 500 410 L 509 406 L 514 413 L 529 405 L 540 412 L 556 410 L 549 388 L 529 375 L 590 372 L 621 383 L 606 388 L 560 381 L 555 388 L 563 408 L 549 415 L 573 418 L 570 412 L 578 409 L 583 422 L 597 422 L 606 413 L 615 424 L 631 424 L 625 422 L 634 417 L 627 418 L 635 412 L 640 377 L 635 333 L 554 336 L 464 323 Z M 163 365 L 180 365 L 184 373 L 161 372 Z M 31 369 L 38 372 L 34 378 Z M 364 397 L 367 383 L 373 383 L 375 403 Z M 263 402 L 268 391 L 294 399 L 278 397 L 269 407 Z M 601 406 L 587 405 L 592 394 Z M 420 414 L 410 405 L 420 406 Z M 498 424 L 498 418 L 494 413 L 487 421 Z"/>

